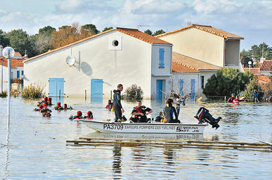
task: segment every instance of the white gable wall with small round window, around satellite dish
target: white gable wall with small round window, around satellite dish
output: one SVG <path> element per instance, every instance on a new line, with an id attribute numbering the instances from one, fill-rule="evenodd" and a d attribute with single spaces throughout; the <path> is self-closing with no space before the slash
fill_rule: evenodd
<path id="1" fill-rule="evenodd" d="M 109 50 L 109 37 L 122 37 L 122 50 Z M 110 91 L 117 89 L 117 84 L 123 84 L 124 90 L 137 84 L 143 89 L 145 98 L 150 98 L 151 50 L 150 43 L 120 31 L 110 31 L 25 61 L 24 86 L 42 82 L 48 93 L 50 77 L 64 78 L 66 96 L 84 96 L 85 90 L 90 95 L 92 79 L 103 79 L 103 98 L 110 98 Z M 76 63 L 70 67 L 65 60 L 71 54 L 76 57 Z"/>

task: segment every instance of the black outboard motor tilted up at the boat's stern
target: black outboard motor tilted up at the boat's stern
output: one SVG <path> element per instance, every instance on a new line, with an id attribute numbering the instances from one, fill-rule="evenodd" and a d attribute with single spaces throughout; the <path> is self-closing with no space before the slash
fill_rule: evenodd
<path id="1" fill-rule="evenodd" d="M 213 126 L 215 130 L 219 128 L 218 122 L 222 119 L 221 117 L 214 119 L 205 107 L 200 107 L 199 111 L 196 112 L 196 115 L 194 117 L 199 120 L 199 123 L 210 123 L 210 125 Z"/>

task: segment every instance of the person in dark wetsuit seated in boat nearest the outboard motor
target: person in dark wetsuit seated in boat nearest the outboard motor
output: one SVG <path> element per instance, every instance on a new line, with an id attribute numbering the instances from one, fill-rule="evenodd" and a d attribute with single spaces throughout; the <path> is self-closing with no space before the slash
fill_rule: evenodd
<path id="1" fill-rule="evenodd" d="M 175 119 L 173 119 L 173 115 L 175 115 Z M 164 119 L 165 123 L 180 123 L 176 108 L 173 107 L 173 99 L 166 100 L 166 107 L 164 107 Z"/>

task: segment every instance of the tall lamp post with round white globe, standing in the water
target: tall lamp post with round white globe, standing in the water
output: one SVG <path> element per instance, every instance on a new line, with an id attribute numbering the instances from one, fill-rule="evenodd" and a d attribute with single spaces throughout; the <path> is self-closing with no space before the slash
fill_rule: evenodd
<path id="1" fill-rule="evenodd" d="M 8 123 L 10 119 L 10 62 L 14 54 L 15 52 L 12 47 L 3 48 L 3 57 L 6 57 L 8 59 Z"/>

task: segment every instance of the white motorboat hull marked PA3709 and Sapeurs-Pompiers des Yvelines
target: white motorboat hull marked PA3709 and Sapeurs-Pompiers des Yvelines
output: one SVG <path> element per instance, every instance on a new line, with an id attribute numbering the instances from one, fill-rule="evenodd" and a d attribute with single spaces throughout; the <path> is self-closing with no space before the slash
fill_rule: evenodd
<path id="1" fill-rule="evenodd" d="M 94 121 L 79 119 L 86 126 L 101 133 L 166 133 L 166 134 L 203 134 L 208 124 L 195 123 L 115 123 L 110 121 Z"/>

